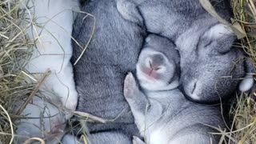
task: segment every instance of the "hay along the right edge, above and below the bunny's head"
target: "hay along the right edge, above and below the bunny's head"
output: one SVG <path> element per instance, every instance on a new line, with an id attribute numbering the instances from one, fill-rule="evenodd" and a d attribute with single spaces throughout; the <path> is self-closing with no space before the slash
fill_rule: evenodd
<path id="1" fill-rule="evenodd" d="M 239 22 L 242 30 L 246 31 L 246 37 L 241 39 L 238 46 L 245 50 L 256 66 L 255 2 L 253 0 L 232 0 L 231 5 L 234 10 L 234 22 Z M 230 117 L 233 119 L 231 131 L 226 133 L 230 140 L 225 143 L 256 143 L 256 91 L 254 90 L 256 89 L 236 96 L 230 109 Z"/>

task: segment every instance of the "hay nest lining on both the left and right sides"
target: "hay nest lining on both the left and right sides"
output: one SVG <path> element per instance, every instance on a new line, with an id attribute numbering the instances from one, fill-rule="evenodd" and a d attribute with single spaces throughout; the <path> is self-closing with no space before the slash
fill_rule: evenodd
<path id="1" fill-rule="evenodd" d="M 256 8 L 254 0 L 231 0 L 234 22 L 242 27 L 245 37 L 238 44 L 256 66 Z M 21 0 L 0 0 L 0 143 L 14 142 L 14 121 L 22 118 L 14 104 L 29 98 L 37 83 L 26 82 L 23 66 L 30 59 L 34 42 L 19 26 L 29 22 L 26 10 L 19 10 Z M 31 21 L 32 22 L 32 21 Z M 222 131 L 224 143 L 256 143 L 256 86 L 246 94 L 237 94 L 230 109 L 233 120 L 230 132 Z M 22 108 L 21 108 L 22 110 Z M 226 140 L 228 138 L 229 140 Z"/>

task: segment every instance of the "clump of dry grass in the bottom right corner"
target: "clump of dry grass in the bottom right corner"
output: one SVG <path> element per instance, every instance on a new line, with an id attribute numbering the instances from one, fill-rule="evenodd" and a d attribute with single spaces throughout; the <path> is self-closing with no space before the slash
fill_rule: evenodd
<path id="1" fill-rule="evenodd" d="M 238 144 L 256 143 L 256 103 L 254 95 L 241 94 L 230 111 L 234 118 L 229 136 Z M 231 140 L 230 140 L 231 142 Z"/>

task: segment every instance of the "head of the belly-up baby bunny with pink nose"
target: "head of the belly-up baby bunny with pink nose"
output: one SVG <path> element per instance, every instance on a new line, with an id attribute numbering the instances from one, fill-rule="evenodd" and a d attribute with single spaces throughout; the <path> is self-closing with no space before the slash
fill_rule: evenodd
<path id="1" fill-rule="evenodd" d="M 160 44 L 159 44 L 160 43 Z M 168 50 L 166 50 L 168 49 Z M 169 59 L 168 59 L 169 58 Z M 150 34 L 136 66 L 140 86 L 146 90 L 170 90 L 178 87 L 179 55 L 166 38 Z M 166 84 L 170 84 L 166 86 Z"/>

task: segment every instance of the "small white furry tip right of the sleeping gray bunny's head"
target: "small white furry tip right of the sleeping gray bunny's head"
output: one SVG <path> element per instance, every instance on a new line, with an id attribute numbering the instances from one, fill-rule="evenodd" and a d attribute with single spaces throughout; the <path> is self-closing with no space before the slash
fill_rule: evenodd
<path id="1" fill-rule="evenodd" d="M 246 74 L 246 77 L 240 82 L 239 90 L 242 92 L 248 91 L 254 86 L 254 78 L 252 74 Z"/>

